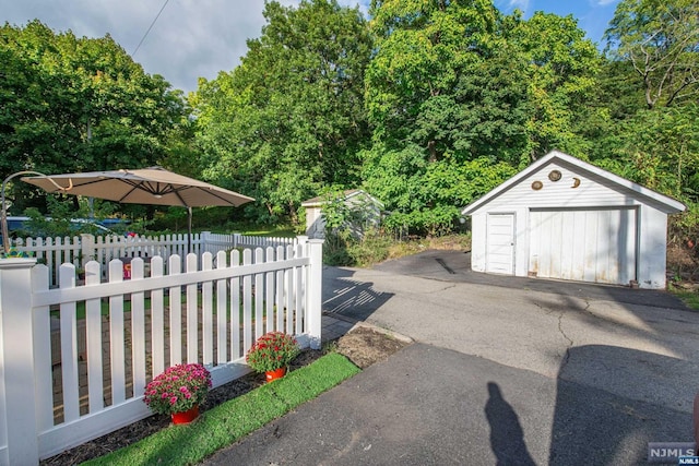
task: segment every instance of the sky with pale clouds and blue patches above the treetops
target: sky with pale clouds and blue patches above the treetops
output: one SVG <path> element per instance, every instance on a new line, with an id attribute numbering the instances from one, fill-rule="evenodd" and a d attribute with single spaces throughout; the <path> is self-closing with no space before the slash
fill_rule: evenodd
<path id="1" fill-rule="evenodd" d="M 337 1 L 351 7 L 358 3 L 365 12 L 369 4 L 369 0 Z M 597 44 L 619 2 L 494 1 L 503 13 L 518 8 L 524 17 L 540 10 L 561 16 L 572 14 Z M 298 0 L 280 2 L 298 4 Z M 190 92 L 197 89 L 200 76 L 212 80 L 239 63 L 247 52 L 246 40 L 259 36 L 264 24 L 262 8 L 262 0 L 0 0 L 0 22 L 24 25 L 38 19 L 55 31 L 71 29 L 79 37 L 109 34 L 145 72 L 162 74 L 173 86 Z M 161 9 L 162 14 L 139 47 Z"/>

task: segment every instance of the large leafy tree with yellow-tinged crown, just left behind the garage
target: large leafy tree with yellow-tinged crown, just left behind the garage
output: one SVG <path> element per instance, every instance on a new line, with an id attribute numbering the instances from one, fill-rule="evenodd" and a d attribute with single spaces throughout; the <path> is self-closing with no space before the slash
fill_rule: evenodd
<path id="1" fill-rule="evenodd" d="M 392 212 L 387 225 L 449 231 L 474 194 L 469 164 L 483 157 L 505 175 L 498 160 L 525 147 L 523 63 L 487 0 L 375 1 L 371 15 L 366 186 Z"/>

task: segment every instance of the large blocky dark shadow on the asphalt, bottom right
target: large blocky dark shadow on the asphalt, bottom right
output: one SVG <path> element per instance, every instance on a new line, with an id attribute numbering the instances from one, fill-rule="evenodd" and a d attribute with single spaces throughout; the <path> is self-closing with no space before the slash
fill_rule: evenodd
<path id="1" fill-rule="evenodd" d="M 688 362 L 616 346 L 571 348 L 557 380 L 548 464 L 645 464 L 649 442 L 691 442 L 691 414 L 674 408 L 684 387 L 654 373 L 668 366 Z"/>

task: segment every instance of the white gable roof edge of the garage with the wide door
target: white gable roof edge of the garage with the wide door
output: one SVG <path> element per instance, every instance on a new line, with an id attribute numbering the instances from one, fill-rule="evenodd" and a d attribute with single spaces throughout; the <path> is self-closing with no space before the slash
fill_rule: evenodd
<path id="1" fill-rule="evenodd" d="M 616 186 L 619 190 L 631 191 L 637 199 L 653 201 L 656 204 L 661 204 L 668 214 L 676 214 L 683 212 L 686 208 L 685 204 L 675 201 L 672 198 L 663 195 L 651 189 L 643 188 L 642 186 L 637 184 L 633 181 L 629 181 L 626 178 L 621 178 L 617 175 L 612 174 L 611 171 L 604 170 L 600 167 L 595 167 L 594 165 L 588 164 L 587 162 L 583 162 L 571 155 L 564 154 L 562 152 L 558 151 L 552 151 L 519 174 L 514 175 L 512 178 L 508 179 L 507 181 L 487 192 L 471 204 L 466 205 L 461 211 L 461 215 L 471 215 L 484 204 L 490 202 L 493 199 L 511 189 L 521 180 L 529 177 L 531 174 L 545 168 L 547 165 L 554 162 L 560 164 L 561 166 L 566 166 L 567 168 L 570 168 L 571 170 L 577 172 L 604 178 L 608 180 L 613 186 Z"/>

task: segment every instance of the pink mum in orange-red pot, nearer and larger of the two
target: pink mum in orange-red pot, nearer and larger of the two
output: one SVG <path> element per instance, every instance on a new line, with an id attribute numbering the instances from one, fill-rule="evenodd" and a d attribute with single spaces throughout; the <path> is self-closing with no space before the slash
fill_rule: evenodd
<path id="1" fill-rule="evenodd" d="M 145 386 L 143 401 L 153 413 L 170 415 L 173 423 L 189 423 L 210 387 L 211 373 L 202 365 L 177 365 Z"/>

